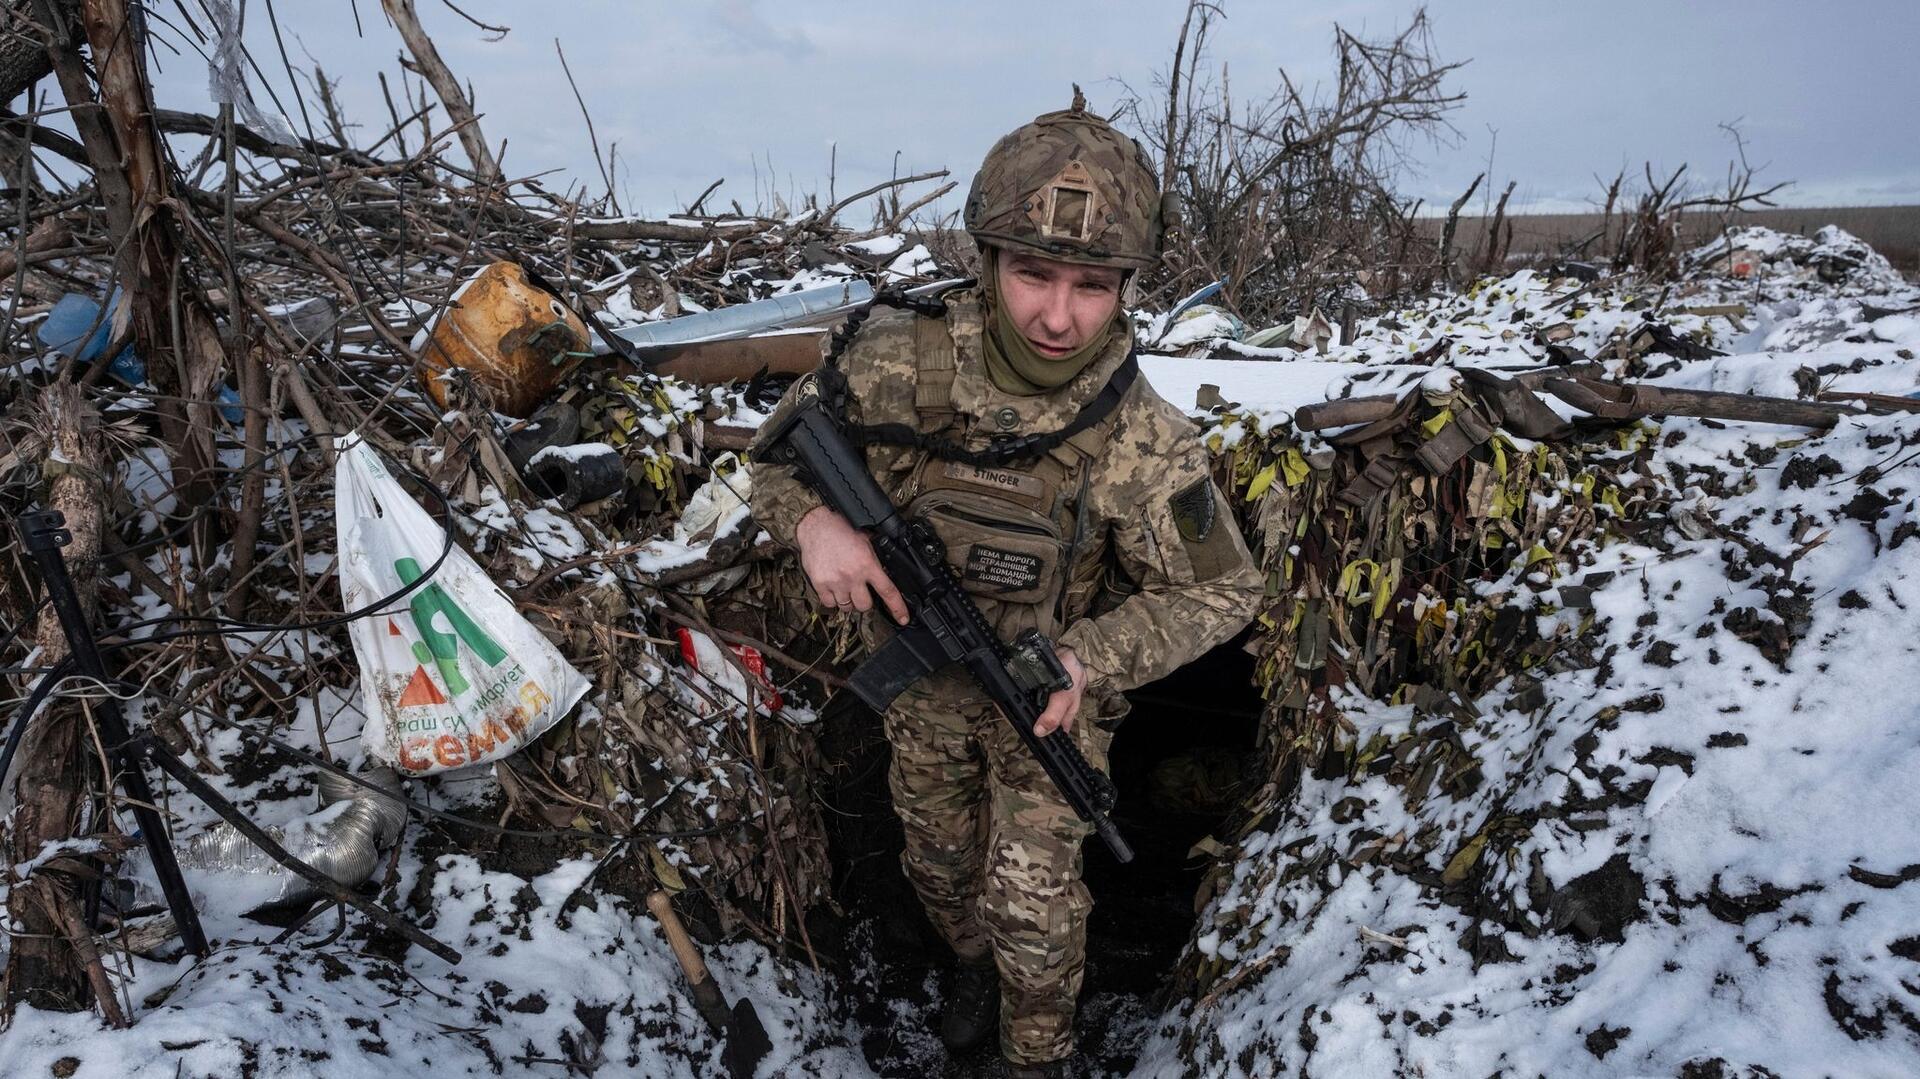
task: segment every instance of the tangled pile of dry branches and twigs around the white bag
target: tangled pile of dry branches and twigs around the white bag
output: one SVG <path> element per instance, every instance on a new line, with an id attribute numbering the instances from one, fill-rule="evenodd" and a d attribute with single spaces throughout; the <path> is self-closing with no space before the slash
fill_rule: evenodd
<path id="1" fill-rule="evenodd" d="M 71 190 L 13 188 L 0 207 L 0 271 L 13 280 L 0 332 L 10 430 L 0 501 L 12 515 L 46 497 L 61 461 L 38 438 L 48 428 L 42 388 L 79 382 L 115 432 L 100 486 L 106 574 L 96 624 L 154 622 L 109 634 L 123 691 L 138 689 L 146 724 L 204 772 L 246 783 L 263 766 L 286 764 L 265 743 L 273 737 L 355 756 L 357 670 L 344 628 L 326 624 L 340 603 L 324 436 L 371 440 L 449 497 L 457 538 L 595 683 L 576 720 L 497 770 L 503 804 L 484 808 L 522 831 L 499 843 L 520 847 L 513 858 L 551 862 L 578 847 L 566 831 L 599 851 L 611 837 L 618 856 L 603 862 L 601 877 L 614 891 L 637 895 L 655 881 L 695 889 L 705 899 L 697 908 L 722 929 L 804 943 L 804 912 L 826 895 L 826 847 L 806 795 L 812 735 L 799 726 L 810 710 L 785 687 L 791 705 L 774 716 L 668 659 L 680 626 L 732 641 L 751 626 L 755 641 L 766 639 L 764 622 L 753 624 L 758 601 L 739 614 L 699 591 L 703 570 L 766 551 L 733 547 L 712 564 L 634 557 L 712 474 L 707 424 L 745 401 L 612 361 L 584 363 L 559 394 L 588 405 L 589 438 L 620 445 L 630 490 L 568 513 L 524 490 L 503 449 L 515 420 L 490 411 L 478 386 L 457 386 L 451 409 L 424 396 L 420 330 L 497 259 L 563 282 L 568 303 L 614 324 L 883 273 L 889 259 L 864 248 L 889 244 L 864 242 L 899 232 L 952 184 L 927 173 L 795 213 L 647 221 L 607 213 L 609 198 L 570 198 L 538 177 L 449 159 L 472 121 L 436 125 L 424 100 L 396 111 L 363 146 L 348 144 L 330 100 L 317 111 L 332 138 L 273 136 L 232 109 L 152 111 L 165 134 L 152 140 L 161 188 L 171 192 L 156 228 L 173 238 L 175 259 L 157 305 L 173 315 L 146 323 L 129 319 L 127 301 L 109 301 L 129 284 L 115 257 L 127 217 L 98 175 L 100 157 L 31 119 L 8 125 L 94 175 Z M 192 144 L 182 136 L 204 144 L 175 157 Z M 841 225 L 876 194 L 887 198 L 872 227 Z M 914 257 L 891 278 L 916 282 L 925 267 L 929 259 Z M 90 365 L 48 353 L 36 338 L 54 303 L 75 292 L 102 301 L 100 324 L 109 326 L 111 344 Z M 154 298 L 150 280 L 121 292 Z M 198 351 L 179 338 L 194 324 L 213 334 Z M 161 336 L 152 336 L 156 326 Z M 106 357 L 125 342 L 138 342 L 150 384 L 108 374 Z M 215 363 L 196 367 L 194 357 Z M 228 397 L 238 407 L 213 405 L 223 384 L 238 386 Z M 169 409 L 184 420 L 165 422 Z M 4 647 L 17 701 L 46 662 L 33 647 L 31 574 L 17 545 L 8 551 L 6 628 L 29 630 Z M 221 616 L 244 626 L 209 630 L 205 620 Z M 242 731 L 238 758 L 228 728 Z M 98 778 L 90 783 L 84 801 L 109 797 Z M 113 827 L 111 814 L 98 820 Z M 459 843 L 474 841 L 470 829 L 449 827 Z M 630 870 L 637 877 L 622 879 Z M 409 899 L 415 914 L 428 914 L 424 895 Z"/>

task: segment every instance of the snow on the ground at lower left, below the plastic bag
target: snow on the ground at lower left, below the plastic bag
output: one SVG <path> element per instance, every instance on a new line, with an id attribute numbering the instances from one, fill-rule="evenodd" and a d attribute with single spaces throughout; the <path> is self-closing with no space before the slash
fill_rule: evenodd
<path id="1" fill-rule="evenodd" d="M 140 1023 L 108 1031 L 90 1014 L 25 1008 L 0 1035 L 8 1075 L 346 1077 L 522 1075 L 541 1060 L 605 1075 L 714 1075 L 718 1043 L 685 1002 L 685 983 L 643 910 L 580 889 L 595 862 L 570 858 L 522 879 L 467 854 L 407 872 L 428 931 L 461 950 L 447 966 L 419 950 L 271 945 L 271 927 L 213 922 L 215 954 L 184 970 L 136 962 L 127 983 Z M 419 875 L 417 875 L 419 874 Z M 330 918 L 303 933 L 319 939 Z M 758 948 L 708 950 L 728 1000 L 758 1002 L 774 1041 L 768 1075 L 858 1075 L 858 1052 L 797 1031 L 833 1029 L 806 970 L 776 970 Z M 549 975 L 551 973 L 551 975 Z M 559 975 L 559 977 L 553 977 Z M 71 1058 L 73 1071 L 56 1069 Z M 553 1073 L 566 1073 L 564 1064 Z"/>

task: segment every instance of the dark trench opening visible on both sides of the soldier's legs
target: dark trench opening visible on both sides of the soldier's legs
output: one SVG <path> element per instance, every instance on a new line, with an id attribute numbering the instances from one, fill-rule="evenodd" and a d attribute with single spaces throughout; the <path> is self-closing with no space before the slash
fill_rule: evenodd
<path id="1" fill-rule="evenodd" d="M 1221 645 L 1173 676 L 1129 693 L 1133 714 L 1114 737 L 1116 824 L 1135 849 L 1121 866 L 1098 839 L 1085 847 L 1092 893 L 1087 981 L 1075 1043 L 1081 1075 L 1125 1075 L 1160 1014 L 1167 973 L 1192 933 L 1204 856 L 1194 843 L 1219 827 L 1254 781 L 1260 693 L 1254 660 Z M 887 795 L 889 747 L 879 718 L 841 695 L 822 720 L 831 762 L 822 799 L 835 902 L 810 927 L 837 968 L 862 1050 L 879 1075 L 973 1075 L 998 1060 L 989 1041 L 952 1060 L 935 1025 L 950 962 L 900 872 L 900 822 Z"/>

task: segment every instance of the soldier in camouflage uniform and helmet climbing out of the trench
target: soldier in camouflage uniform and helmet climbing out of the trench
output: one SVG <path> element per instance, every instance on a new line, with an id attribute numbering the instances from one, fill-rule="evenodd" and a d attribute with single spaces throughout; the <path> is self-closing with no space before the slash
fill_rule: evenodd
<path id="1" fill-rule="evenodd" d="M 1058 730 L 1106 768 L 1121 691 L 1238 632 L 1261 578 L 1192 422 L 1133 378 L 1121 294 L 1160 259 L 1162 232 L 1144 150 L 1075 88 L 1071 109 L 987 154 L 966 227 L 977 286 L 947 294 L 941 317 L 860 324 L 837 357 L 845 422 L 1000 637 L 1033 628 L 1058 641 L 1073 687 L 1035 733 Z M 906 622 L 872 545 L 791 467 L 756 467 L 753 511 L 799 549 L 824 607 L 862 612 L 870 647 L 889 618 Z M 956 668 L 902 693 L 885 730 L 902 864 L 958 956 L 941 1037 L 958 1052 L 998 1025 L 1014 1075 L 1058 1075 L 1085 971 L 1091 827 Z"/>

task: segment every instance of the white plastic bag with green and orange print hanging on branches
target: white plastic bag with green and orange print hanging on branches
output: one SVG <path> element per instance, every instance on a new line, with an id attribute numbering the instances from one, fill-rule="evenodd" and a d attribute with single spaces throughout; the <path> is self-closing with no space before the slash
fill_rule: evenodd
<path id="1" fill-rule="evenodd" d="M 361 440 L 334 467 L 346 611 L 434 564 L 445 532 Z M 588 691 L 474 561 L 453 547 L 428 584 L 348 626 L 359 659 L 367 753 L 409 776 L 499 760 L 545 733 Z"/>

